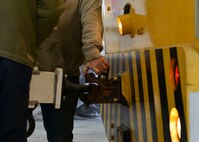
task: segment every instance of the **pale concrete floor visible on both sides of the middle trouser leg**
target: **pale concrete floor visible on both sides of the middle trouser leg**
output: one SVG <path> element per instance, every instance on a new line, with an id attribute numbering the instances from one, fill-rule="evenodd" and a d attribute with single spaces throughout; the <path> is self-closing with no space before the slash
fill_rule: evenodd
<path id="1" fill-rule="evenodd" d="M 75 117 L 73 133 L 74 142 L 108 142 L 100 117 L 93 119 Z M 28 142 L 48 142 L 42 119 L 36 119 L 36 128 Z"/>

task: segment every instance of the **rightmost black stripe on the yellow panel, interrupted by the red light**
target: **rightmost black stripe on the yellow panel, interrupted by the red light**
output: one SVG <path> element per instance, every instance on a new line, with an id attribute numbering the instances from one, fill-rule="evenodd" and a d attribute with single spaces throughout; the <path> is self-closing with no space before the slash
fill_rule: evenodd
<path id="1" fill-rule="evenodd" d="M 178 65 L 178 56 L 177 56 L 176 47 L 170 48 L 170 55 L 171 55 L 171 58 L 174 58 L 176 60 L 176 64 Z M 179 112 L 180 121 L 181 121 L 181 142 L 187 142 L 187 130 L 186 130 L 185 112 L 184 112 L 184 106 L 183 106 L 183 100 L 182 100 L 180 76 L 179 76 L 179 84 L 176 90 L 174 90 L 174 94 L 175 94 L 176 108 Z"/>

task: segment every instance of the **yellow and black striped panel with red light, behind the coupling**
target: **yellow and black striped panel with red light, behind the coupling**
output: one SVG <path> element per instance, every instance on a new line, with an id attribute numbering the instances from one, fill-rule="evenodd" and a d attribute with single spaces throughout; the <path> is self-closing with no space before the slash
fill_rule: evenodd
<path id="1" fill-rule="evenodd" d="M 106 55 L 111 64 L 110 76 L 121 73 L 123 79 L 125 72 L 130 82 L 122 81 L 122 86 L 130 92 L 123 94 L 129 102 L 129 108 L 120 104 L 101 105 L 109 141 L 118 142 L 118 127 L 126 125 L 130 128 L 128 136 L 132 142 L 170 142 L 172 108 L 179 113 L 180 139 L 187 141 L 186 89 L 181 85 L 184 84 L 181 78 L 185 78 L 185 73 L 180 67 L 184 64 L 184 60 L 181 60 L 184 58 L 182 50 L 180 47 L 171 47 Z"/>

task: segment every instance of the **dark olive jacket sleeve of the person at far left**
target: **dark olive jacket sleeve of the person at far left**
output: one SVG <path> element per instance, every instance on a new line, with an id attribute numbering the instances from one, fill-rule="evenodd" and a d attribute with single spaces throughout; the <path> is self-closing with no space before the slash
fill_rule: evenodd
<path id="1" fill-rule="evenodd" d="M 64 11 L 65 0 L 37 0 L 36 3 L 37 45 L 44 41 L 56 26 Z"/>

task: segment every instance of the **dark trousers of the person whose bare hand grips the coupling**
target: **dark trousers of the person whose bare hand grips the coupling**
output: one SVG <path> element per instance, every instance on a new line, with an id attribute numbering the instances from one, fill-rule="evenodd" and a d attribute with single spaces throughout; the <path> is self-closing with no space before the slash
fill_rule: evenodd
<path id="1" fill-rule="evenodd" d="M 79 83 L 79 77 L 69 78 Z M 49 142 L 72 142 L 73 121 L 78 101 L 77 92 L 63 90 L 61 108 L 55 109 L 52 104 L 41 104 L 44 127 Z"/>

